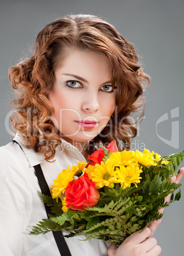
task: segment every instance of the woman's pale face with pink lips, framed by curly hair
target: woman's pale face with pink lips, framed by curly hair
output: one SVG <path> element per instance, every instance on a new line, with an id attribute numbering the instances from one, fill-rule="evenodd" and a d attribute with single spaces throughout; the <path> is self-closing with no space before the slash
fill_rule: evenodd
<path id="1" fill-rule="evenodd" d="M 115 110 L 115 90 L 106 57 L 85 50 L 68 50 L 55 71 L 48 97 L 53 122 L 66 141 L 82 143 L 103 130 Z"/>

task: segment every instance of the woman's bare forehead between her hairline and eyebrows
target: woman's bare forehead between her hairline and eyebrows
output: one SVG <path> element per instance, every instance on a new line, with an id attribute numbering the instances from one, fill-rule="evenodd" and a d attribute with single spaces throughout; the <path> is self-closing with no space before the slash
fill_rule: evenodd
<path id="1" fill-rule="evenodd" d="M 69 48 L 64 57 L 60 57 L 57 73 L 74 73 L 78 76 L 105 76 L 111 80 L 111 66 L 106 56 L 90 50 Z"/>

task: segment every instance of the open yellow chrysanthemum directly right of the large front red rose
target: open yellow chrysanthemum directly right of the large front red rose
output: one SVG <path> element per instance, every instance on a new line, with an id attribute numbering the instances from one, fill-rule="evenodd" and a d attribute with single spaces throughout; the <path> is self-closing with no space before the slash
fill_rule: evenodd
<path id="1" fill-rule="evenodd" d="M 95 169 L 90 173 L 90 178 L 92 181 L 96 181 L 96 188 L 102 188 L 104 186 L 113 188 L 114 182 L 117 178 L 114 176 L 115 171 L 111 162 L 101 162 L 101 164 L 96 164 Z"/>

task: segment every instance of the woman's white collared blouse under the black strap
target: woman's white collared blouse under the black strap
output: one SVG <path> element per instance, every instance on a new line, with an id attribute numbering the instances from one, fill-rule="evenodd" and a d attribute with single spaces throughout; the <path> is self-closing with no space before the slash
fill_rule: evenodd
<path id="1" fill-rule="evenodd" d="M 32 226 L 46 218 L 43 201 L 37 191 L 41 191 L 34 167 L 41 164 L 48 186 L 62 169 L 69 164 L 85 160 L 71 144 L 62 141 L 56 150 L 55 162 L 46 162 L 42 153 L 24 146 L 20 136 L 17 143 L 9 143 L 0 148 L 0 250 L 3 256 L 59 256 L 59 250 L 52 232 L 30 235 Z M 106 256 L 110 243 L 99 239 L 79 241 L 85 236 L 65 238 L 73 256 Z M 65 255 L 64 255 L 65 256 Z"/>

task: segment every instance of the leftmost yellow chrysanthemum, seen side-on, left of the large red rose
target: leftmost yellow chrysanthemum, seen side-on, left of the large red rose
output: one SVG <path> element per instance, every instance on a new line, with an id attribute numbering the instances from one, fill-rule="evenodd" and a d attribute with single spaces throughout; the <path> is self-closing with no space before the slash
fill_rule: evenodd
<path id="1" fill-rule="evenodd" d="M 78 171 L 77 166 L 72 166 L 71 169 L 63 169 L 62 173 L 57 176 L 57 180 L 53 180 L 54 186 L 52 185 L 52 198 L 58 198 L 61 194 L 64 194 L 67 184 L 69 181 L 74 180 L 74 174 Z"/>

